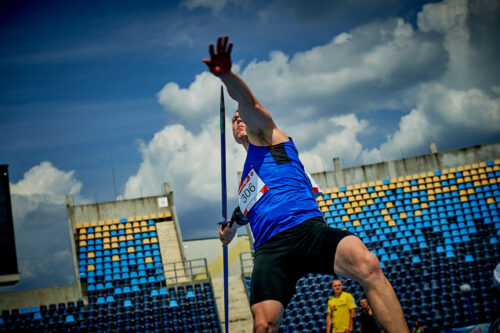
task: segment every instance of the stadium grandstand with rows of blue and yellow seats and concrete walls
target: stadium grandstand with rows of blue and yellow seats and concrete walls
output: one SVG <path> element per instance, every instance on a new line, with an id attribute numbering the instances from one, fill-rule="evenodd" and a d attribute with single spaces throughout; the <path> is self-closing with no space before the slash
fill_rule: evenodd
<path id="1" fill-rule="evenodd" d="M 487 332 L 500 314 L 500 142 L 430 150 L 352 168 L 335 158 L 334 170 L 313 174 L 318 206 L 378 256 L 409 325 Z M 165 193 L 89 205 L 67 197 L 77 282 L 0 295 L 0 332 L 221 332 L 220 244 L 184 242 L 168 184 Z M 250 332 L 251 234 L 230 246 L 229 327 Z M 323 332 L 331 280 L 299 280 L 280 331 Z M 361 286 L 342 280 L 359 301 Z"/>

